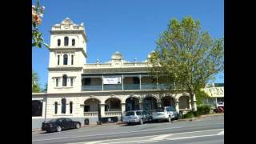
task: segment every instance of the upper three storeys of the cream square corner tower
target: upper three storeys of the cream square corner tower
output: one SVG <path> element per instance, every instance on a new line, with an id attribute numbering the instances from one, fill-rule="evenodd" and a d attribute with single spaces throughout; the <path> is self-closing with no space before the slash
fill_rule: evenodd
<path id="1" fill-rule="evenodd" d="M 83 23 L 65 18 L 50 30 L 48 93 L 81 91 L 82 67 L 86 63 L 86 32 Z"/>

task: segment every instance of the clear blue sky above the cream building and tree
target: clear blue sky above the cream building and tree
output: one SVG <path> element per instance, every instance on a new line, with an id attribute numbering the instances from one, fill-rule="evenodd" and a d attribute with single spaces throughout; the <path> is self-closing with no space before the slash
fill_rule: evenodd
<path id="1" fill-rule="evenodd" d="M 32 1 L 33 4 L 36 1 Z M 42 25 L 46 43 L 50 43 L 50 28 L 66 17 L 74 23 L 84 22 L 87 43 L 87 63 L 110 60 L 119 51 L 127 61 L 146 59 L 155 42 L 166 30 L 171 18 L 181 20 L 191 16 L 201 22 L 202 30 L 213 38 L 224 37 L 223 0 L 44 0 L 46 7 Z M 39 83 L 45 86 L 48 77 L 49 50 L 33 47 L 32 68 Z M 223 74 L 215 82 L 224 82 Z"/>

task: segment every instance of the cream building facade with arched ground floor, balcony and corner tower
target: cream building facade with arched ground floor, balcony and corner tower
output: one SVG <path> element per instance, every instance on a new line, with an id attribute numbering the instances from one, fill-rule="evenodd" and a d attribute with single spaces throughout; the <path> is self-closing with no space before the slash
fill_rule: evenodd
<path id="1" fill-rule="evenodd" d="M 98 110 L 102 118 L 120 118 L 126 110 L 174 106 L 178 111 L 188 111 L 191 105 L 196 107 L 195 97 L 190 100 L 186 93 L 167 90 L 165 78 L 153 82 L 147 74 L 150 65 L 146 60 L 127 62 L 116 52 L 109 62 L 86 63 L 87 38 L 83 24 L 76 25 L 66 18 L 52 26 L 50 33 L 48 90 L 46 94 L 32 94 L 33 101 L 42 98 L 43 111 L 41 116 L 33 117 L 34 127 L 40 127 L 44 120 L 60 117 L 82 123 L 90 118 L 90 123 L 95 123 Z M 104 78 L 121 78 L 122 82 L 108 85 L 102 82 Z"/>

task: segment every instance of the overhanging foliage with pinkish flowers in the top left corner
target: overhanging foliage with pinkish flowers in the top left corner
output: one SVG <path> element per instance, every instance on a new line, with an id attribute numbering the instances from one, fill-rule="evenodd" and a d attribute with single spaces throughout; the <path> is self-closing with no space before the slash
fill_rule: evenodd
<path id="1" fill-rule="evenodd" d="M 42 16 L 44 14 L 45 7 L 39 6 L 39 1 L 36 6 L 32 6 L 32 46 L 42 47 L 44 44 L 47 48 L 50 46 L 44 42 L 42 38 L 42 33 L 39 32 L 38 26 L 42 23 Z"/>

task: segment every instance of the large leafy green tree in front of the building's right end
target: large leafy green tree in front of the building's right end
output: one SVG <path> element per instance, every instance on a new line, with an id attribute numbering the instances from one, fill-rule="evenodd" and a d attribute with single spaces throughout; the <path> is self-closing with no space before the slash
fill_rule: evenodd
<path id="1" fill-rule="evenodd" d="M 151 53 L 150 74 L 166 75 L 172 90 L 186 90 L 193 100 L 214 74 L 223 70 L 224 38 L 214 39 L 191 17 L 170 20 Z M 192 101 L 192 110 L 195 110 Z"/>

